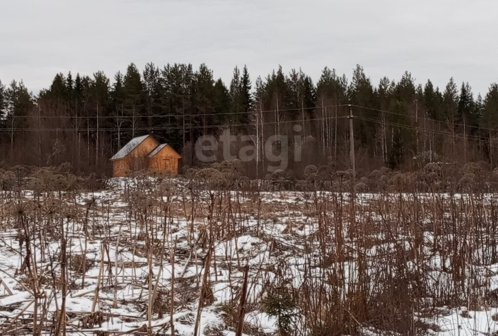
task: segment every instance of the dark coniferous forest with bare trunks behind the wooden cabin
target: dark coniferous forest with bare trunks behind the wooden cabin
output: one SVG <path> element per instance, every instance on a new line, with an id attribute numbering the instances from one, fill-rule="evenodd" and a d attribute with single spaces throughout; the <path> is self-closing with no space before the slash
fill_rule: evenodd
<path id="1" fill-rule="evenodd" d="M 184 167 L 199 166 L 194 144 L 202 135 L 229 129 L 261 142 L 276 134 L 294 139 L 294 126 L 301 125 L 302 157 L 289 160 L 289 169 L 348 168 L 350 113 L 360 169 L 498 161 L 497 83 L 484 96 L 467 82 L 451 78 L 439 88 L 430 80 L 417 83 L 409 72 L 373 83 L 360 65 L 352 75 L 325 67 L 317 81 L 302 70 L 279 67 L 263 77 L 236 67 L 224 83 L 206 64 L 148 63 L 140 70 L 131 63 L 114 76 L 56 74 L 37 95 L 22 81 L 0 82 L 0 111 L 2 167 L 69 162 L 76 173 L 105 175 L 109 158 L 144 134 L 175 148 Z M 270 164 L 262 158 L 246 170 L 264 176 Z"/>

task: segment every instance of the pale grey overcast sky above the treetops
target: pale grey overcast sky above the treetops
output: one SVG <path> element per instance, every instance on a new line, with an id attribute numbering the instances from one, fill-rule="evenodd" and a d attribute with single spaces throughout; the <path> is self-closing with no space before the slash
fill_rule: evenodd
<path id="1" fill-rule="evenodd" d="M 496 0 L 0 0 L 0 80 L 33 92 L 57 72 L 110 77 L 134 62 L 205 62 L 228 85 L 283 66 L 316 82 L 324 66 L 374 84 L 405 70 L 484 94 L 498 81 Z"/>

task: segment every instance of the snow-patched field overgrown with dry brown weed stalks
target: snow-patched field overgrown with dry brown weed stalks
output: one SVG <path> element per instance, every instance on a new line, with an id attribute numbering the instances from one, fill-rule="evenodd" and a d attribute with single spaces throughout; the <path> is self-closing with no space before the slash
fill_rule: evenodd
<path id="1" fill-rule="evenodd" d="M 0 335 L 498 335 L 497 204 L 168 178 L 1 191 Z"/>

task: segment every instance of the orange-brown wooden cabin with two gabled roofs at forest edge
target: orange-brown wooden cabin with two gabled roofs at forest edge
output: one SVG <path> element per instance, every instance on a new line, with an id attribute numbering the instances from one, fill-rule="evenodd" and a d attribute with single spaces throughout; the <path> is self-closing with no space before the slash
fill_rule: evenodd
<path id="1" fill-rule="evenodd" d="M 131 139 L 112 158 L 113 176 L 126 175 L 128 170 L 152 169 L 169 170 L 178 173 L 178 160 L 181 156 L 169 145 L 159 144 L 150 135 Z"/>

